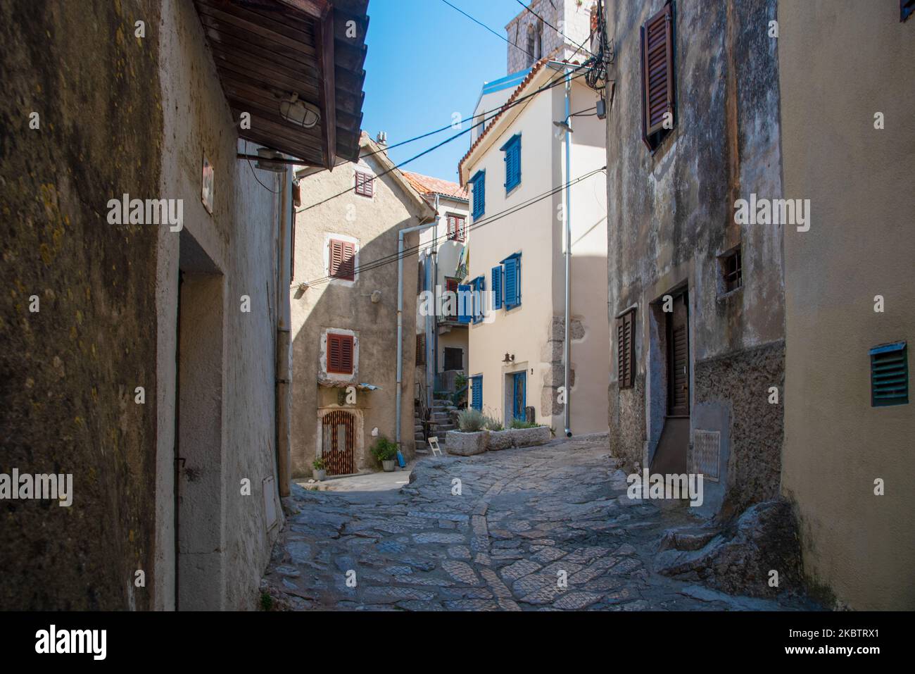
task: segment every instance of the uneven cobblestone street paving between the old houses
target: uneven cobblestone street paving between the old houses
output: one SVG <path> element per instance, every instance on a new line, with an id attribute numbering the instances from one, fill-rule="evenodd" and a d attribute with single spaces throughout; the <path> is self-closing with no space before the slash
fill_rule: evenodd
<path id="1" fill-rule="evenodd" d="M 693 517 L 679 503 L 630 501 L 606 442 L 424 458 L 410 484 L 387 492 L 296 486 L 289 502 L 299 513 L 288 517 L 264 583 L 294 610 L 801 607 L 653 573 L 664 529 Z"/>

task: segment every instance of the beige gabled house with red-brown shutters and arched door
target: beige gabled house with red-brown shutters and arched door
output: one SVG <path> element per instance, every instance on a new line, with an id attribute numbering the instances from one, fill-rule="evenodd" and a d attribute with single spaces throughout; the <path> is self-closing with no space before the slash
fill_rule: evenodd
<path id="1" fill-rule="evenodd" d="M 299 173 L 308 196 L 296 213 L 292 299 L 295 476 L 318 456 L 330 475 L 371 469 L 380 436 L 414 453 L 417 228 L 435 211 L 384 147 L 365 133 L 360 147 L 358 161 Z"/>

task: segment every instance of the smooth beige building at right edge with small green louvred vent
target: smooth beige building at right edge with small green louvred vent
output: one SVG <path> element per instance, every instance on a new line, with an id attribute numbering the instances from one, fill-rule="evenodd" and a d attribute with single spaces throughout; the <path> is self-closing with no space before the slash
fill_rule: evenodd
<path id="1" fill-rule="evenodd" d="M 915 609 L 915 17 L 905 5 L 779 3 L 784 192 L 813 211 L 809 230 L 784 233 L 781 489 L 812 589 L 855 610 Z"/>

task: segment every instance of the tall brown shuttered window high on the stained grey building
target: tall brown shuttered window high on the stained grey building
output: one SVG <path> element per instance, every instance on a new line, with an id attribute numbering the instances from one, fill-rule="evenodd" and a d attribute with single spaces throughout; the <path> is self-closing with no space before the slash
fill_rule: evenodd
<path id="1" fill-rule="evenodd" d="M 673 3 L 641 27 L 642 139 L 654 151 L 674 123 Z"/>

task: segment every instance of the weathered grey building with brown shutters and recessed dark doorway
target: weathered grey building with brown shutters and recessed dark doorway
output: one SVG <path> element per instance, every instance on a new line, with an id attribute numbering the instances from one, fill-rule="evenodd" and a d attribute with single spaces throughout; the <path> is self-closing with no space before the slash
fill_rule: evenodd
<path id="1" fill-rule="evenodd" d="M 783 226 L 734 206 L 783 191 L 776 3 L 605 6 L 611 451 L 734 515 L 779 494 Z"/>

